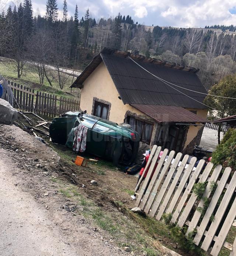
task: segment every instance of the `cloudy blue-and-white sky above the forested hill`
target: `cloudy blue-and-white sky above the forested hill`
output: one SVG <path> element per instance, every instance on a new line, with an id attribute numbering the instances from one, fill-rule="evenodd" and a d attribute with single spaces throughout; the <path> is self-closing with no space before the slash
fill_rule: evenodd
<path id="1" fill-rule="evenodd" d="M 63 0 L 58 0 L 62 9 Z M 45 14 L 46 0 L 32 0 L 35 14 Z M 205 27 L 236 25 L 236 0 L 67 0 L 69 15 L 79 7 L 80 18 L 89 8 L 91 16 L 115 17 L 130 15 L 140 24 L 172 27 Z"/>

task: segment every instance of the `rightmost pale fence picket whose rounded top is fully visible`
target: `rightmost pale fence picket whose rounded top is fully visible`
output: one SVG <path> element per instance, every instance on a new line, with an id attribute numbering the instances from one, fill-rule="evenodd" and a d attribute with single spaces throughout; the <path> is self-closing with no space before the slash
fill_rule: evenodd
<path id="1" fill-rule="evenodd" d="M 212 213 L 214 212 L 214 209 L 215 209 L 215 206 L 218 202 L 218 199 L 223 191 L 223 189 L 225 188 L 225 184 L 229 178 L 229 175 L 231 173 L 231 168 L 226 168 L 222 177 L 221 177 L 221 180 L 216 188 L 216 191 L 211 199 L 211 202 L 208 206 L 208 209 L 202 219 L 202 222 L 199 226 L 199 230 L 197 232 L 197 234 L 195 235 L 195 238 L 193 240 L 193 242 L 196 244 L 196 245 L 199 245 L 199 242 L 201 241 L 202 239 L 202 236 L 204 234 L 204 231 L 206 230 L 206 227 L 208 225 L 208 222 L 209 222 L 209 219 L 211 218 L 211 215 Z M 215 221 L 214 221 L 215 222 Z"/>

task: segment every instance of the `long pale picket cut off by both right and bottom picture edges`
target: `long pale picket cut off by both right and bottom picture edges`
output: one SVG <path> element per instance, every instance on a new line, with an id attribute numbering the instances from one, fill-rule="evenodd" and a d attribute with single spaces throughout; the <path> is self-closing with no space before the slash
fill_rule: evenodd
<path id="1" fill-rule="evenodd" d="M 221 231 L 219 232 L 217 239 L 215 241 L 215 244 L 211 250 L 211 255 L 217 256 L 225 242 L 226 236 L 229 233 L 229 229 L 231 228 L 235 217 L 236 217 L 236 198 L 233 201 L 233 204 L 229 210 L 229 213 L 225 219 L 225 222 L 223 223 L 223 226 L 221 228 Z"/>

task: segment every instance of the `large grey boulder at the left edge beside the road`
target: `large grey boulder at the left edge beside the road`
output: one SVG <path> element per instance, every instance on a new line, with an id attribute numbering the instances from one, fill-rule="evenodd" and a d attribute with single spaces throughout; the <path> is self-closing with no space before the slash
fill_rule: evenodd
<path id="1" fill-rule="evenodd" d="M 18 111 L 8 101 L 0 99 L 0 124 L 13 124 L 17 117 Z"/>

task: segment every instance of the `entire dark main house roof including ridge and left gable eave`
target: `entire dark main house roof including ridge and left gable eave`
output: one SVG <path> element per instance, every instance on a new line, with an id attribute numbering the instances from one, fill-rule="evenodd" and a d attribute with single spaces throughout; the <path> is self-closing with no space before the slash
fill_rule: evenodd
<path id="1" fill-rule="evenodd" d="M 127 56 L 134 59 L 152 74 L 168 82 L 186 89 L 207 93 L 195 74 L 198 71 L 195 68 L 111 48 L 104 48 L 100 54 L 94 57 L 93 61 L 84 69 L 71 87 L 82 88 L 83 82 L 103 61 L 124 104 L 166 105 L 206 109 L 206 106 L 201 104 L 205 95 L 176 87 L 177 90 L 193 98 L 191 99 L 140 68 L 131 59 L 126 58 Z"/>

